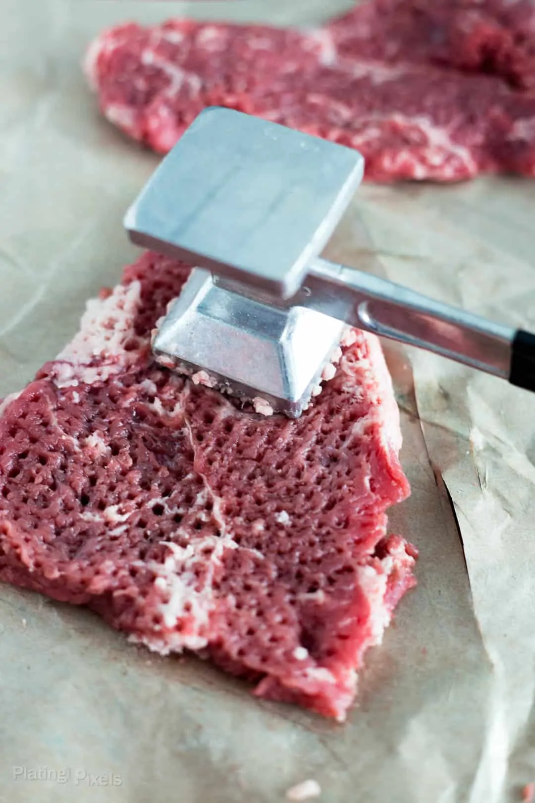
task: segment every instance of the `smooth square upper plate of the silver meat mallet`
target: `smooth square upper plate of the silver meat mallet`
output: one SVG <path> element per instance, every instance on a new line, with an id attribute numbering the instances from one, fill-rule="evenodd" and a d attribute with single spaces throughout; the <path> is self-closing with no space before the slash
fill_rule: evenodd
<path id="1" fill-rule="evenodd" d="M 124 218 L 132 242 L 287 299 L 363 177 L 355 150 L 207 108 Z"/>

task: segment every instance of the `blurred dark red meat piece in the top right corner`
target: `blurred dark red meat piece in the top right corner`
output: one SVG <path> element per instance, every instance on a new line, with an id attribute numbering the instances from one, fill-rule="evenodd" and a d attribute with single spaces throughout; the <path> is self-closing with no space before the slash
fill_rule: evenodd
<path id="1" fill-rule="evenodd" d="M 375 0 L 330 31 L 342 58 L 431 63 L 535 88 L 533 0 Z"/>

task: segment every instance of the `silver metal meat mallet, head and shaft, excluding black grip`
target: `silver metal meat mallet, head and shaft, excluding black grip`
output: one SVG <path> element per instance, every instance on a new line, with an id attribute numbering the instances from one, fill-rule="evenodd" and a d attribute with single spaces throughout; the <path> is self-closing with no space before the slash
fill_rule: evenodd
<path id="1" fill-rule="evenodd" d="M 512 328 L 318 257 L 362 175 L 352 149 L 228 109 L 202 112 L 125 218 L 135 243 L 217 274 L 193 271 L 156 358 L 290 416 L 306 408 L 343 324 L 509 378 Z"/>

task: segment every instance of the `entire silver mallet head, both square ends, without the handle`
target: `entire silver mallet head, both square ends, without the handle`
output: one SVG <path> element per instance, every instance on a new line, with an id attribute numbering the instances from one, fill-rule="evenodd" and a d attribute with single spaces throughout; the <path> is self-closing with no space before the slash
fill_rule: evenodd
<path id="1" fill-rule="evenodd" d="M 156 359 L 300 415 L 346 326 L 296 294 L 363 167 L 318 137 L 201 112 L 124 219 L 133 243 L 197 267 L 153 341 Z"/>

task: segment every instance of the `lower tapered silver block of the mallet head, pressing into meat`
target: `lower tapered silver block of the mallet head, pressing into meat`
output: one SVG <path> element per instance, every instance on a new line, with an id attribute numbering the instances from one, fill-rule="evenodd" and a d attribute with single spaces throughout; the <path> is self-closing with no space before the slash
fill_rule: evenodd
<path id="1" fill-rule="evenodd" d="M 152 344 L 156 359 L 245 400 L 298 417 L 337 349 L 344 324 L 303 307 L 245 298 L 192 271 Z M 197 378 L 197 377 L 196 377 Z"/>

